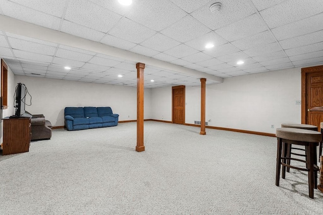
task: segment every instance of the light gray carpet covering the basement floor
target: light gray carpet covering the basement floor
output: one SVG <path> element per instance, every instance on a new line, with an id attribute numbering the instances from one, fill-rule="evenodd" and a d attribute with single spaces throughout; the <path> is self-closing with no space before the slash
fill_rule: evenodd
<path id="1" fill-rule="evenodd" d="M 55 129 L 0 157 L 0 214 L 323 214 L 297 170 L 275 185 L 275 137 L 145 122 Z"/>

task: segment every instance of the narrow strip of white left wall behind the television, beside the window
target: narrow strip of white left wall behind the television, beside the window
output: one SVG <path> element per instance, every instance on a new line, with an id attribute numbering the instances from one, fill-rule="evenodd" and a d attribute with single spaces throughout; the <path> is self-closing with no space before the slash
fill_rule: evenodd
<path id="1" fill-rule="evenodd" d="M 14 93 L 16 89 L 16 84 L 14 82 L 14 74 L 12 70 L 8 67 L 8 108 L 7 109 L 1 109 L 0 111 L 0 119 L 5 118 L 7 116 L 14 115 L 15 108 L 14 108 Z M 0 88 L 1 89 L 1 88 Z M 3 142 L 3 120 L 0 121 L 0 142 Z"/>

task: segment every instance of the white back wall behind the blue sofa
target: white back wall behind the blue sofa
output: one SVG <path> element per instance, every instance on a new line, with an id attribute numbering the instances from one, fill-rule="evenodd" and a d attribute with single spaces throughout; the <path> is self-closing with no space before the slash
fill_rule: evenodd
<path id="1" fill-rule="evenodd" d="M 53 126 L 64 125 L 65 107 L 110 106 L 114 113 L 120 115 L 119 121 L 137 118 L 135 87 L 26 76 L 15 76 L 15 83 L 25 84 L 32 96 L 31 106 L 26 106 L 26 110 L 31 114 L 44 114 Z M 144 118 L 150 119 L 151 89 L 145 89 L 144 95 Z M 27 96 L 26 103 L 28 102 Z"/>

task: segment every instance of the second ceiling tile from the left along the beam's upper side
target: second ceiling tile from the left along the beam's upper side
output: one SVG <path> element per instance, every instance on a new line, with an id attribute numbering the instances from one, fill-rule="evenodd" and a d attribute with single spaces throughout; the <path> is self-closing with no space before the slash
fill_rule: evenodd
<path id="1" fill-rule="evenodd" d="M 61 31 L 85 39 L 99 41 L 105 35 L 102 32 L 64 20 Z"/>

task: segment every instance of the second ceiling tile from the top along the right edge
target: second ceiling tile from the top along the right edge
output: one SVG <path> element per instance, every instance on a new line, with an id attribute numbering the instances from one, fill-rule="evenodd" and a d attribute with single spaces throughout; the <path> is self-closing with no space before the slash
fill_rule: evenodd
<path id="1" fill-rule="evenodd" d="M 272 29 L 278 41 L 323 29 L 323 13 Z"/>

